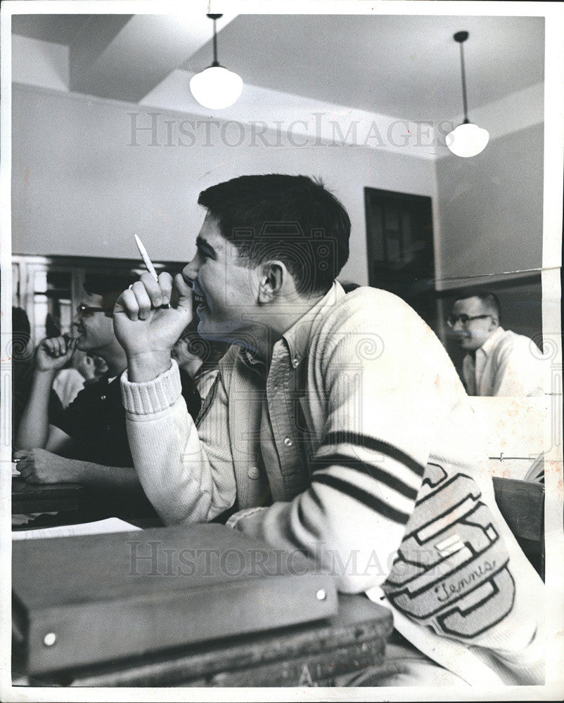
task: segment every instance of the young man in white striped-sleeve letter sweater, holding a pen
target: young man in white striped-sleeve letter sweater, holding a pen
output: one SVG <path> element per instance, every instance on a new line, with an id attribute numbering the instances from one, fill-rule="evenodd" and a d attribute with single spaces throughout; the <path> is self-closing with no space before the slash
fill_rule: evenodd
<path id="1" fill-rule="evenodd" d="M 340 590 L 385 602 L 397 630 L 454 672 L 419 654 L 440 672 L 432 681 L 539 683 L 542 584 L 495 506 L 439 340 L 394 295 L 345 295 L 333 280 L 350 221 L 319 183 L 243 176 L 198 202 L 207 214 L 174 279 L 178 306 L 166 307 L 170 276 L 143 275 L 114 314 L 134 465 L 162 519 L 234 508 L 234 529 L 309 553 Z M 197 430 L 170 356 L 192 296 L 200 335 L 236 345 Z"/>

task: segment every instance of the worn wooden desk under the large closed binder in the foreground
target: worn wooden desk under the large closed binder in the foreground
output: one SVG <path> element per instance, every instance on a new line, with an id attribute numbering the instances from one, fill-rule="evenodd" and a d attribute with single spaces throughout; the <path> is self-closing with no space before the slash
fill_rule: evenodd
<path id="1" fill-rule="evenodd" d="M 313 624 L 177 648 L 40 680 L 20 678 L 18 683 L 88 687 L 331 685 L 335 676 L 382 664 L 393 628 L 390 610 L 365 595 L 340 595 L 339 602 L 338 614 Z"/>

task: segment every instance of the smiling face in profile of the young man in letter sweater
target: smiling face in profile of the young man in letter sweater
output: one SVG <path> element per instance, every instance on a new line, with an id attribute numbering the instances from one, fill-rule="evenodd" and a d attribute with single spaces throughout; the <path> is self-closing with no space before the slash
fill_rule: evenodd
<path id="1" fill-rule="evenodd" d="M 257 321 L 257 267 L 245 268 L 236 247 L 219 231 L 210 213 L 196 240 L 196 256 L 182 275 L 192 286 L 202 337 L 245 341 Z"/>

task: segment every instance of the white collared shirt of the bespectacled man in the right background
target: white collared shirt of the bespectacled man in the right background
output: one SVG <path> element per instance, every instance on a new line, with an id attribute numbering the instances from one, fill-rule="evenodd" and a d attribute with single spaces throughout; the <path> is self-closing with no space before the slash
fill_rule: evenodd
<path id="1" fill-rule="evenodd" d="M 498 327 L 476 351 L 464 357 L 462 373 L 468 395 L 541 396 L 542 354 L 529 337 Z"/>

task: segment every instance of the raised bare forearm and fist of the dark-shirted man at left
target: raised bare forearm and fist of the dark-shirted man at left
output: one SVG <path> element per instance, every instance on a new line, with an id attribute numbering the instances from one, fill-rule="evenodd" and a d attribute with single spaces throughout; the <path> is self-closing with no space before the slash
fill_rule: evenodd
<path id="1" fill-rule="evenodd" d="M 48 449 L 64 453 L 72 439 L 57 427 L 49 425 L 49 394 L 53 379 L 75 351 L 76 342 L 64 337 L 46 339 L 35 352 L 35 370 L 32 389 L 20 420 L 15 441 L 17 449 Z"/>

